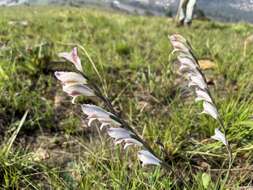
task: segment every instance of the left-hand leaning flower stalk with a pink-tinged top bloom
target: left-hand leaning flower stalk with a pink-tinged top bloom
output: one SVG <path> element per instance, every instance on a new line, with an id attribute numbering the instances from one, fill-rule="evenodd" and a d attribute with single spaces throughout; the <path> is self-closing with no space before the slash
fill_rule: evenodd
<path id="1" fill-rule="evenodd" d="M 91 126 L 93 121 L 98 121 L 100 123 L 100 129 L 106 130 L 107 134 L 114 139 L 115 144 L 123 144 L 124 149 L 130 146 L 140 147 L 141 150 L 138 151 L 137 156 L 143 166 L 160 165 L 171 171 L 171 167 L 119 116 L 110 100 L 103 95 L 100 90 L 101 88 L 88 79 L 82 68 L 81 59 L 77 54 L 77 48 L 74 48 L 69 53 L 60 53 L 59 57 L 71 62 L 76 68 L 76 72 L 55 72 L 56 78 L 61 81 L 63 91 L 72 97 L 72 103 L 76 104 L 76 98 L 79 96 L 86 96 L 89 98 L 96 97 L 100 99 L 109 110 L 106 111 L 96 105 L 82 104 L 81 109 L 87 116 L 88 126 Z"/>

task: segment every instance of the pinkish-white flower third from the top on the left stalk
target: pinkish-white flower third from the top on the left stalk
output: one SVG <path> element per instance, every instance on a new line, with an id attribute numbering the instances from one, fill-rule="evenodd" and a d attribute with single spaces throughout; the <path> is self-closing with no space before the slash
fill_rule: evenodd
<path id="1" fill-rule="evenodd" d="M 75 103 L 76 97 L 80 95 L 84 95 L 87 97 L 96 96 L 94 91 L 84 84 L 64 85 L 63 91 L 66 92 L 69 96 L 73 97 L 73 104 Z"/>

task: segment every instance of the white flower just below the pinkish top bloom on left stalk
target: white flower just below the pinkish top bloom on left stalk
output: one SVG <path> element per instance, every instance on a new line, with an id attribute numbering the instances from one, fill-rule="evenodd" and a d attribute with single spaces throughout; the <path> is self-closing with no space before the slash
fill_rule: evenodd
<path id="1" fill-rule="evenodd" d="M 63 85 L 87 84 L 87 79 L 81 74 L 75 72 L 56 71 L 54 74 L 56 78 L 63 83 Z"/>

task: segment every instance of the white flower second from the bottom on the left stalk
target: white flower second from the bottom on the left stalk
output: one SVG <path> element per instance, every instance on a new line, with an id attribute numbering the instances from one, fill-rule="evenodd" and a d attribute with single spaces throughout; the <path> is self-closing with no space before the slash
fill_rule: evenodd
<path id="1" fill-rule="evenodd" d="M 115 139 L 115 144 L 125 143 L 124 148 L 129 145 L 142 146 L 142 143 L 134 138 L 135 134 L 124 128 L 109 128 L 107 133 L 110 137 Z"/>

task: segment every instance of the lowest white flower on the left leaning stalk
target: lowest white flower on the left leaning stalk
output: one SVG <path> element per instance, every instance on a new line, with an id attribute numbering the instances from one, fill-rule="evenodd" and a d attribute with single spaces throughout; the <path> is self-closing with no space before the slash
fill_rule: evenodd
<path id="1" fill-rule="evenodd" d="M 147 150 L 140 150 L 138 152 L 138 158 L 142 162 L 142 166 L 145 165 L 160 165 L 161 160 L 156 158 L 153 154 L 151 154 Z"/>

